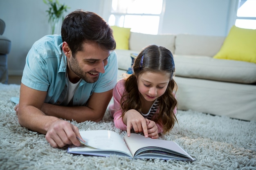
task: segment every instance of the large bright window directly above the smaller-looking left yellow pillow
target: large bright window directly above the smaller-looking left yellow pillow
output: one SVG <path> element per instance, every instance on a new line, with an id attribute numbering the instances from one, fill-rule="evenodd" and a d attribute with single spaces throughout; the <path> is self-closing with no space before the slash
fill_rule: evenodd
<path id="1" fill-rule="evenodd" d="M 164 0 L 112 0 L 108 23 L 132 32 L 157 34 L 163 7 Z"/>

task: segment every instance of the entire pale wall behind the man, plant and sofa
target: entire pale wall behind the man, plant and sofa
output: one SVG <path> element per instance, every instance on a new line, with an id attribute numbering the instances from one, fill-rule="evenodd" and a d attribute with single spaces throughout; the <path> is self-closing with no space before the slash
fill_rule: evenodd
<path id="1" fill-rule="evenodd" d="M 83 9 L 98 13 L 108 20 L 106 2 L 110 0 L 59 2 L 71 7 L 67 13 Z M 159 32 L 225 36 L 234 24 L 232 16 L 235 6 L 234 0 L 166 0 L 163 25 Z M 8 54 L 9 75 L 22 74 L 25 57 L 32 44 L 50 33 L 46 10 L 47 5 L 43 0 L 0 0 L 0 18 L 6 23 L 3 35 L 12 43 Z"/>

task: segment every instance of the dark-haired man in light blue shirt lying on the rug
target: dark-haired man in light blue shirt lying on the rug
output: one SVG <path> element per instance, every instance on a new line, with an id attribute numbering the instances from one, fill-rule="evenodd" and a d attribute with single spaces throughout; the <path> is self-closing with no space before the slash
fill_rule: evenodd
<path id="1" fill-rule="evenodd" d="M 67 15 L 61 35 L 41 38 L 27 54 L 15 107 L 20 125 L 46 134 L 53 147 L 80 146 L 79 129 L 63 119 L 103 118 L 117 82 L 115 48 L 112 29 L 99 15 Z"/>

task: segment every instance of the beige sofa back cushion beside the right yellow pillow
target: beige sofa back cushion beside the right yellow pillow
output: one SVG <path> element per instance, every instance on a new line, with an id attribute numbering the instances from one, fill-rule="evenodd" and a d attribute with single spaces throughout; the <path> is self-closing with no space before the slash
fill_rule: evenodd
<path id="1" fill-rule="evenodd" d="M 220 50 L 225 37 L 178 34 L 175 40 L 175 54 L 204 55 L 213 57 Z"/>

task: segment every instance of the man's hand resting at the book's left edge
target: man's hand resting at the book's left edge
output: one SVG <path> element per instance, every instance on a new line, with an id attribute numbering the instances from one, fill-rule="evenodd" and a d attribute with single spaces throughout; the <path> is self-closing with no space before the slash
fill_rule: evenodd
<path id="1" fill-rule="evenodd" d="M 80 141 L 76 138 L 82 139 L 79 129 L 72 125 L 71 123 L 59 120 L 54 122 L 45 135 L 45 139 L 49 142 L 51 146 L 64 147 L 66 145 L 74 144 L 75 146 L 80 146 Z"/>

